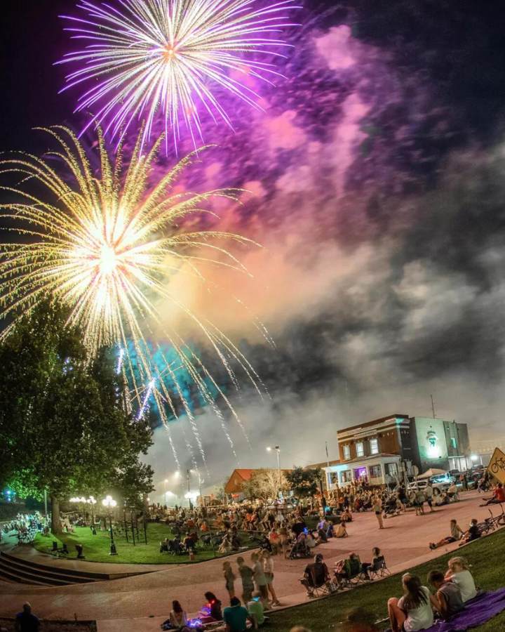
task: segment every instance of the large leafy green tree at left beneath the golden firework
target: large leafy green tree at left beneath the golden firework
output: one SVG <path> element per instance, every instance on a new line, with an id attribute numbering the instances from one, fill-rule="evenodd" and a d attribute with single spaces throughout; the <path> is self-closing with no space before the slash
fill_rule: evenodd
<path id="1" fill-rule="evenodd" d="M 153 474 L 138 456 L 152 431 L 126 412 L 115 358 L 90 358 L 67 320 L 45 301 L 0 345 L 0 473 L 22 497 L 48 490 L 53 532 L 61 500 L 114 487 L 130 499 L 151 491 Z"/>

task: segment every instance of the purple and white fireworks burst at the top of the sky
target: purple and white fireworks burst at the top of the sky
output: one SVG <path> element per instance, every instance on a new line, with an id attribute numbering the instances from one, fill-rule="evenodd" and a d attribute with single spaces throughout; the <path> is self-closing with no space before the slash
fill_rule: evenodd
<path id="1" fill-rule="evenodd" d="M 115 8 L 83 0 L 79 8 L 88 18 L 62 16 L 76 25 L 67 29 L 74 38 L 89 42 L 59 62 L 84 63 L 67 76 L 64 89 L 92 84 L 77 111 L 97 106 L 93 120 L 107 121 L 106 133 L 116 136 L 142 118 L 147 122 L 143 143 L 161 110 L 175 146 L 183 122 L 196 147 L 199 107 L 231 126 L 212 86 L 261 109 L 257 94 L 231 75 L 250 74 L 264 81 L 278 75 L 271 64 L 254 60 L 250 53 L 279 55 L 273 49 L 288 46 L 271 38 L 290 25 L 285 13 L 294 8 L 292 1 L 253 8 L 257 0 L 121 0 Z"/>

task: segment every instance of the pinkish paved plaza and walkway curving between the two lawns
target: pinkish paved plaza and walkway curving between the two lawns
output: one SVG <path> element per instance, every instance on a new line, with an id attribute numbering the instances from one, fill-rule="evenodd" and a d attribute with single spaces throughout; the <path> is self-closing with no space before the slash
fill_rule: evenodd
<path id="1" fill-rule="evenodd" d="M 384 529 L 379 530 L 375 515 L 371 512 L 354 514 L 354 522 L 349 528 L 346 539 L 330 539 L 328 544 L 318 546 L 316 551 L 323 553 L 330 569 L 337 560 L 346 557 L 352 551 L 360 555 L 363 562 L 372 558 L 372 547 L 379 546 L 392 572 L 400 572 L 417 563 L 436 558 L 457 545 L 429 550 L 429 542 L 441 539 L 449 533 L 449 520 L 455 518 L 462 529 L 466 529 L 471 518 L 483 520 L 489 517 L 487 508 L 479 507 L 482 496 L 478 492 L 461 494 L 457 503 L 436 508 L 435 513 L 416 516 L 415 511 L 384 521 Z M 498 508 L 490 507 L 494 513 Z M 428 508 L 426 507 L 426 510 Z M 25 553 L 26 554 L 26 553 Z M 30 553 L 33 555 L 33 553 Z M 243 554 L 246 560 L 250 551 Z M 48 560 L 36 553 L 37 561 Z M 227 558 L 234 562 L 237 555 Z M 52 563 L 55 563 L 51 560 Z M 173 599 L 180 600 L 187 612 L 198 612 L 204 603 L 203 593 L 211 590 L 227 601 L 222 579 L 222 561 L 211 560 L 196 565 L 156 565 L 147 574 L 124 577 L 113 581 L 98 581 L 94 584 L 74 586 L 44 587 L 24 584 L 0 584 L 0 616 L 13 616 L 20 610 L 20 604 L 29 600 L 34 612 L 42 619 L 95 619 L 99 632 L 119 630 L 129 632 L 138 629 L 139 621 L 144 619 L 142 628 L 158 628 L 159 623 L 168 617 Z M 62 565 L 62 562 L 58 563 Z M 73 562 L 83 570 L 109 572 L 109 565 L 93 562 Z M 299 584 L 307 560 L 285 560 L 281 555 L 274 558 L 274 586 L 278 598 L 285 606 L 303 603 L 307 600 L 305 591 Z M 123 572 L 129 572 L 121 565 Z M 234 565 L 236 570 L 236 565 Z M 147 570 L 146 565 L 142 571 Z M 131 567 L 135 572 L 135 567 Z M 236 584 L 240 594 L 240 579 Z M 338 596 L 336 597 L 338 598 Z M 151 617 L 150 619 L 148 619 Z M 118 621 L 123 619 L 123 621 Z M 124 619 L 130 620 L 125 621 Z"/>

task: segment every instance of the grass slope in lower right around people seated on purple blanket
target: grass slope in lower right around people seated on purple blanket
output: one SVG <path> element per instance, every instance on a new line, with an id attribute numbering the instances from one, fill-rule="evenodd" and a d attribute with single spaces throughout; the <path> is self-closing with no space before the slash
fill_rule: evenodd
<path id="1" fill-rule="evenodd" d="M 432 569 L 447 570 L 447 561 L 454 555 L 464 555 L 472 565 L 471 572 L 477 586 L 484 590 L 494 590 L 505 584 L 505 529 L 464 546 L 458 552 L 443 555 L 432 562 L 409 569 L 418 575 L 426 584 L 426 575 Z M 366 561 L 366 560 L 364 560 Z M 387 600 L 389 597 L 400 597 L 401 575 L 394 575 L 388 579 L 372 582 L 365 586 L 358 586 L 345 593 L 337 593 L 313 603 L 281 610 L 271 614 L 269 630 L 288 632 L 292 626 L 305 626 L 312 632 L 332 631 L 335 624 L 344 619 L 344 612 L 351 608 L 360 608 L 373 615 L 374 620 L 387 617 Z M 388 624 L 379 626 L 385 630 Z M 505 611 L 501 612 L 487 624 L 471 628 L 472 632 L 505 631 Z"/>

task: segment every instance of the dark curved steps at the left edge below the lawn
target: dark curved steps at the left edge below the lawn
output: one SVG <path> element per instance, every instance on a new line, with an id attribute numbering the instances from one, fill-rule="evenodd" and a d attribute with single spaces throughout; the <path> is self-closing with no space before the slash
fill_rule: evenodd
<path id="1" fill-rule="evenodd" d="M 106 579 L 100 573 L 87 573 L 44 566 L 0 551 L 0 580 L 34 586 L 69 586 Z"/>

